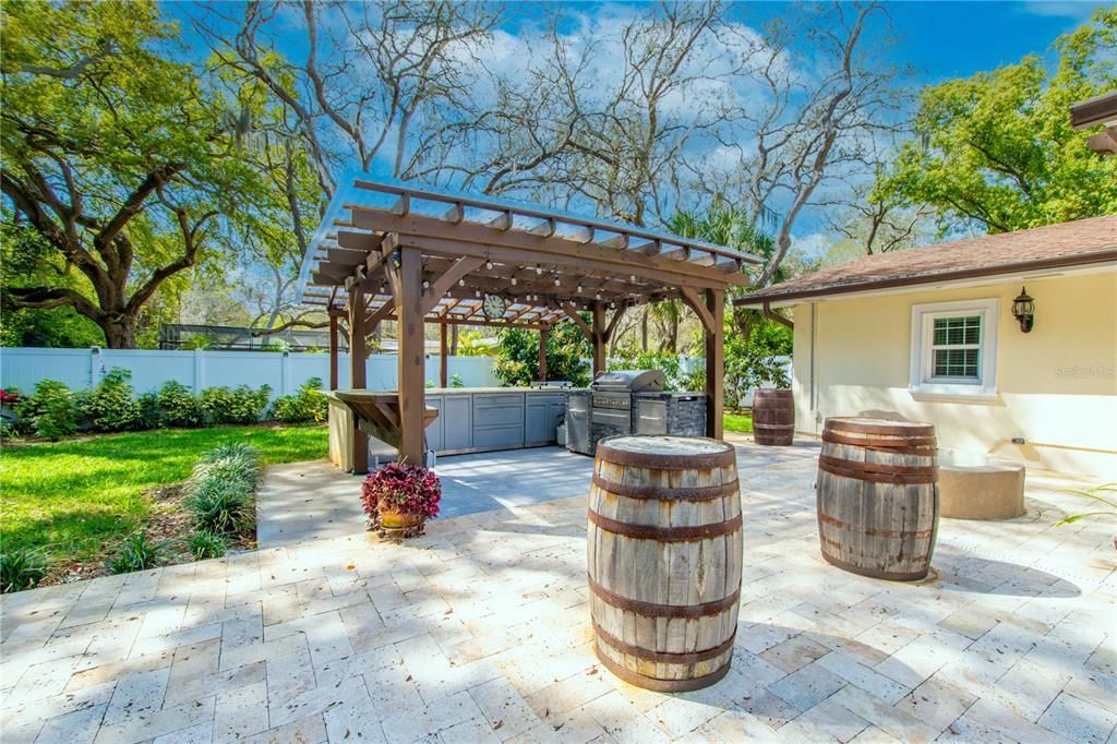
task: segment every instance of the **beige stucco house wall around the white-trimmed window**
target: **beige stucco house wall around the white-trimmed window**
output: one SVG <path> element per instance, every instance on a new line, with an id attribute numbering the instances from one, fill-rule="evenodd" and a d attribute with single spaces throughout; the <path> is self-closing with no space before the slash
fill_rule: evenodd
<path id="1" fill-rule="evenodd" d="M 1028 334 L 1011 314 L 1020 280 L 796 305 L 796 429 L 817 435 L 827 417 L 898 413 L 933 422 L 943 448 L 1117 475 L 1117 270 L 1027 285 L 1035 299 Z M 911 393 L 911 306 L 993 297 L 1000 298 L 995 398 L 957 402 Z M 1012 443 L 1014 437 L 1027 443 Z"/>

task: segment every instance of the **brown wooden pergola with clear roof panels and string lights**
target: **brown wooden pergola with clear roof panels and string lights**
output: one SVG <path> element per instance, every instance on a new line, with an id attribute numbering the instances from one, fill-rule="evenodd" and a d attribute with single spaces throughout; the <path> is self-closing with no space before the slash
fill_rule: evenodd
<path id="1" fill-rule="evenodd" d="M 349 319 L 352 387 L 365 387 L 365 336 L 395 321 L 399 336 L 400 457 L 421 462 L 426 323 L 540 333 L 575 323 L 593 345 L 593 373 L 624 313 L 681 299 L 705 328 L 707 430 L 722 438 L 725 292 L 747 284 L 755 256 L 676 235 L 577 217 L 519 202 L 426 187 L 346 179 L 327 209 L 299 276 L 300 301 L 331 324 L 331 389 L 337 387 L 337 318 Z M 488 314 L 485 299 L 489 296 Z M 504 305 L 503 314 L 494 314 Z M 580 313 L 590 314 L 590 319 Z M 359 439 L 362 439 L 359 437 Z M 357 457 L 362 455 L 356 452 Z"/>

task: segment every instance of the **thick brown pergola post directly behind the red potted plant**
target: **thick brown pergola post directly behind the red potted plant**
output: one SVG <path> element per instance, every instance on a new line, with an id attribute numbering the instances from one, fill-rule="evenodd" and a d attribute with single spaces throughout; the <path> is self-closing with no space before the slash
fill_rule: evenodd
<path id="1" fill-rule="evenodd" d="M 391 263 L 393 259 L 389 259 Z M 424 464 L 423 394 L 426 343 L 423 341 L 422 254 L 401 248 L 397 269 L 395 313 L 399 335 L 400 461 Z"/>

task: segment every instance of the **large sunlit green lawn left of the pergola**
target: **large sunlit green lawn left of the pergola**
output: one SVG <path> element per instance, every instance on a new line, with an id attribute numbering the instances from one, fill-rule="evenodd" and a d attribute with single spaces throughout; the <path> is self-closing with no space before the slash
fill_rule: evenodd
<path id="1" fill-rule="evenodd" d="M 211 427 L 6 447 L 0 452 L 0 544 L 46 545 L 51 557 L 84 562 L 112 550 L 156 507 L 147 492 L 182 483 L 198 458 L 242 441 L 265 464 L 326 456 L 326 428 Z"/>

